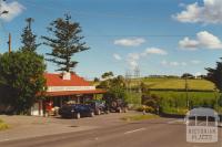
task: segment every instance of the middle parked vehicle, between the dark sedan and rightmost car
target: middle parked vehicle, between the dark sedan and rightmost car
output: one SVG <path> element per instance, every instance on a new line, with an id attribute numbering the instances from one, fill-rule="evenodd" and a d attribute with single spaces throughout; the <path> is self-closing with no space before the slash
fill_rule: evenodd
<path id="1" fill-rule="evenodd" d="M 100 114 L 108 114 L 109 109 L 107 107 L 105 101 L 99 101 L 99 99 L 93 99 L 87 102 L 93 109 L 94 114 L 100 115 Z"/>

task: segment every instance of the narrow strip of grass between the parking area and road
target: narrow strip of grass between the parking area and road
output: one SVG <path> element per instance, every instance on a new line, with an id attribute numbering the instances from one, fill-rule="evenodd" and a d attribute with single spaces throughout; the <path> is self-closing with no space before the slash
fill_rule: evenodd
<path id="1" fill-rule="evenodd" d="M 153 115 L 153 114 L 147 114 L 147 115 L 133 115 L 133 116 L 125 116 L 122 117 L 122 120 L 127 120 L 127 122 L 133 122 L 133 120 L 144 120 L 144 119 L 154 119 L 154 118 L 160 118 L 160 116 L 158 115 Z"/>

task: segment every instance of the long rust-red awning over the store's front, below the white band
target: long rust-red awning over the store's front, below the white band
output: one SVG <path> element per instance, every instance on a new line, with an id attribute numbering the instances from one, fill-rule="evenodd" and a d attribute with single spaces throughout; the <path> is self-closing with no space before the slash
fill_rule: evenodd
<path id="1" fill-rule="evenodd" d="M 68 96 L 78 94 L 103 94 L 104 90 L 93 90 L 93 91 L 62 91 L 62 92 L 46 92 L 46 96 Z"/>

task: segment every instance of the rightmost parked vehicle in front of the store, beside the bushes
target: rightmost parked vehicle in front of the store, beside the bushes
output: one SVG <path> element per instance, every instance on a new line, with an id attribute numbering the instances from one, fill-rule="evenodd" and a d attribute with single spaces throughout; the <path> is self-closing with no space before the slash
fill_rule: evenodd
<path id="1" fill-rule="evenodd" d="M 128 103 L 124 102 L 123 99 L 121 98 L 110 98 L 108 102 L 108 109 L 110 112 L 115 112 L 115 113 L 127 113 L 128 112 Z"/>

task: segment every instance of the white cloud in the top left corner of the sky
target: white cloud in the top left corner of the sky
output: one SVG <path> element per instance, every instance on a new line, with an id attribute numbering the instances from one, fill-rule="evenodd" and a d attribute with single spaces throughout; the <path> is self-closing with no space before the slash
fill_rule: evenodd
<path id="1" fill-rule="evenodd" d="M 18 17 L 26 9 L 21 3 L 13 1 L 10 3 L 0 2 L 1 8 L 0 11 L 8 11 L 6 14 L 1 14 L 0 19 L 3 21 L 11 21 L 16 17 Z"/>

